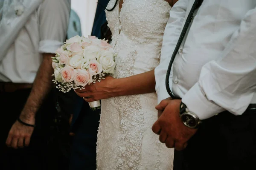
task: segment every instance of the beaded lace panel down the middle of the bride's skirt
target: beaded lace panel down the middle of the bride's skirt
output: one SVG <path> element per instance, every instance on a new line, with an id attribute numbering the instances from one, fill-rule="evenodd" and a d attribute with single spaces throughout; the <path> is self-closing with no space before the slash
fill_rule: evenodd
<path id="1" fill-rule="evenodd" d="M 117 139 L 116 155 L 118 170 L 142 170 L 141 147 L 144 130 L 142 107 L 137 96 L 124 96 L 114 99 L 120 107 L 120 134 Z"/>

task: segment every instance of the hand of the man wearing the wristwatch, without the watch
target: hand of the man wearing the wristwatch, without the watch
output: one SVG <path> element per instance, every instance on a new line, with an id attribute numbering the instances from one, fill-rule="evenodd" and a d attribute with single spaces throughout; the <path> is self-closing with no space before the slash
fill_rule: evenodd
<path id="1" fill-rule="evenodd" d="M 156 106 L 158 111 L 163 111 L 154 123 L 152 130 L 160 135 L 159 140 L 167 147 L 183 150 L 188 140 L 196 133 L 196 129 L 185 126 L 180 118 L 181 100 L 165 99 Z"/>

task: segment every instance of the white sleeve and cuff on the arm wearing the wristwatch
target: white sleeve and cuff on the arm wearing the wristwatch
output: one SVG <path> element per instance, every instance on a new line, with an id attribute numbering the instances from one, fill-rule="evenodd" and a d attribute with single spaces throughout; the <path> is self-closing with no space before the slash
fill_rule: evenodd
<path id="1" fill-rule="evenodd" d="M 200 119 L 222 111 L 244 113 L 256 92 L 256 9 L 247 12 L 220 59 L 201 69 L 183 103 Z"/>

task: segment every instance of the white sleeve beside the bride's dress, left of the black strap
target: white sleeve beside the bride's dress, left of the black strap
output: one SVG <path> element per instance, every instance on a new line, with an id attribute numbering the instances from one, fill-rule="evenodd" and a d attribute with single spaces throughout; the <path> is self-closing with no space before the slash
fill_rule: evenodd
<path id="1" fill-rule="evenodd" d="M 172 7 L 170 11 L 170 18 L 166 24 L 166 28 L 163 36 L 163 45 L 161 51 L 160 65 L 155 68 L 155 79 L 156 79 L 156 92 L 158 103 L 169 96 L 166 90 L 166 72 L 169 62 L 172 57 L 172 53 L 180 37 L 183 21 L 186 17 L 186 9 L 189 2 L 188 0 L 179 0 Z M 170 84 L 172 83 L 172 70 L 169 78 Z"/>

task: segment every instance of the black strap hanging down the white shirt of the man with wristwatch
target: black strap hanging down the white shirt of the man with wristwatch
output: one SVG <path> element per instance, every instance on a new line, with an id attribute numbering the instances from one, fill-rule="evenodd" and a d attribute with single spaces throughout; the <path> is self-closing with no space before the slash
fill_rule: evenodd
<path id="1" fill-rule="evenodd" d="M 172 54 L 172 58 L 171 58 L 171 61 L 169 63 L 169 67 L 168 67 L 168 70 L 167 70 L 167 73 L 166 73 L 166 90 L 168 92 L 168 94 L 172 97 L 172 99 L 181 99 L 180 97 L 176 97 L 173 93 L 172 93 L 172 90 L 170 89 L 170 84 L 169 84 L 169 77 L 170 77 L 170 74 L 171 74 L 171 69 L 172 69 L 172 64 L 174 62 L 174 59 L 177 55 L 177 52 L 179 51 L 179 48 L 180 48 L 180 45 L 186 35 L 186 31 L 188 30 L 189 28 L 189 24 L 191 23 L 192 21 L 192 18 L 193 18 L 193 14 L 195 12 L 195 10 L 197 8 L 199 8 L 201 6 L 201 4 L 203 3 L 204 0 L 195 0 L 190 12 L 189 12 L 189 15 L 186 19 L 186 22 L 184 24 L 184 27 L 181 31 L 181 34 L 180 34 L 180 37 L 179 37 L 179 40 L 177 42 L 177 45 L 175 47 L 175 50 Z"/>

